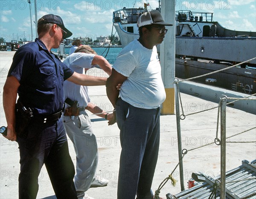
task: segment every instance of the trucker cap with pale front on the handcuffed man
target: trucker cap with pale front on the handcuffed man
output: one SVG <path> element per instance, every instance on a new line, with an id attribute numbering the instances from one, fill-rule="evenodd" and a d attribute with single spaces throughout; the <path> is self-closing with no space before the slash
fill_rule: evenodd
<path id="1" fill-rule="evenodd" d="M 157 10 L 152 10 L 143 13 L 140 15 L 140 18 L 137 21 L 137 25 L 140 28 L 141 26 L 151 25 L 151 24 L 160 24 L 164 26 L 172 26 L 170 23 L 166 23 L 163 20 L 162 15 Z"/>

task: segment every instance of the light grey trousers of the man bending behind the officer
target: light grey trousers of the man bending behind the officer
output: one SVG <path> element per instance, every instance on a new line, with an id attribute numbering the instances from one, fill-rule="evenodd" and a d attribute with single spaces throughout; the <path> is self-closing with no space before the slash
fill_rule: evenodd
<path id="1" fill-rule="evenodd" d="M 93 134 L 90 118 L 85 111 L 81 111 L 74 119 L 64 115 L 61 119 L 76 151 L 75 187 L 78 198 L 82 198 L 96 176 L 98 165 L 96 136 Z"/>

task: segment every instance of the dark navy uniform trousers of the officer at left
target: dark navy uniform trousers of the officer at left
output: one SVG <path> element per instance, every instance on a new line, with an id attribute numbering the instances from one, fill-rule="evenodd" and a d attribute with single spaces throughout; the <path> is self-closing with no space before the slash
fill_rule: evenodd
<path id="1" fill-rule="evenodd" d="M 38 176 L 43 164 L 47 168 L 58 199 L 77 199 L 73 182 L 75 169 L 68 151 L 67 136 L 61 119 L 55 122 L 32 121 L 17 136 L 20 149 L 19 198 L 35 199 Z M 43 173 L 48 178 L 47 173 Z"/>

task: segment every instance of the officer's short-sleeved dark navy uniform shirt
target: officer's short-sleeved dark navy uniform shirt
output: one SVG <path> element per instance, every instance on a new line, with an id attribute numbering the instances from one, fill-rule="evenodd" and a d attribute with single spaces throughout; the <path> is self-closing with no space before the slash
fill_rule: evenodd
<path id="1" fill-rule="evenodd" d="M 49 115 L 62 110 L 63 81 L 73 73 L 37 38 L 17 50 L 8 77 L 19 80 L 19 99 L 25 107 L 33 108 L 34 115 Z"/>

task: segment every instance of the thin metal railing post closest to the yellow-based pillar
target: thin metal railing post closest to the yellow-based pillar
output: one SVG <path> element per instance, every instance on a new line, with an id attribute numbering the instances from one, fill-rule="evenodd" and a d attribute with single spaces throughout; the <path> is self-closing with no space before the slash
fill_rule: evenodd
<path id="1" fill-rule="evenodd" d="M 176 108 L 176 123 L 177 123 L 177 138 L 178 138 L 178 151 L 179 151 L 179 161 L 180 161 L 180 189 L 183 191 L 184 188 L 184 176 L 183 176 L 183 161 L 182 161 L 182 144 L 181 144 L 181 130 L 180 130 L 180 103 L 178 94 L 178 85 L 175 85 L 175 108 Z"/>

